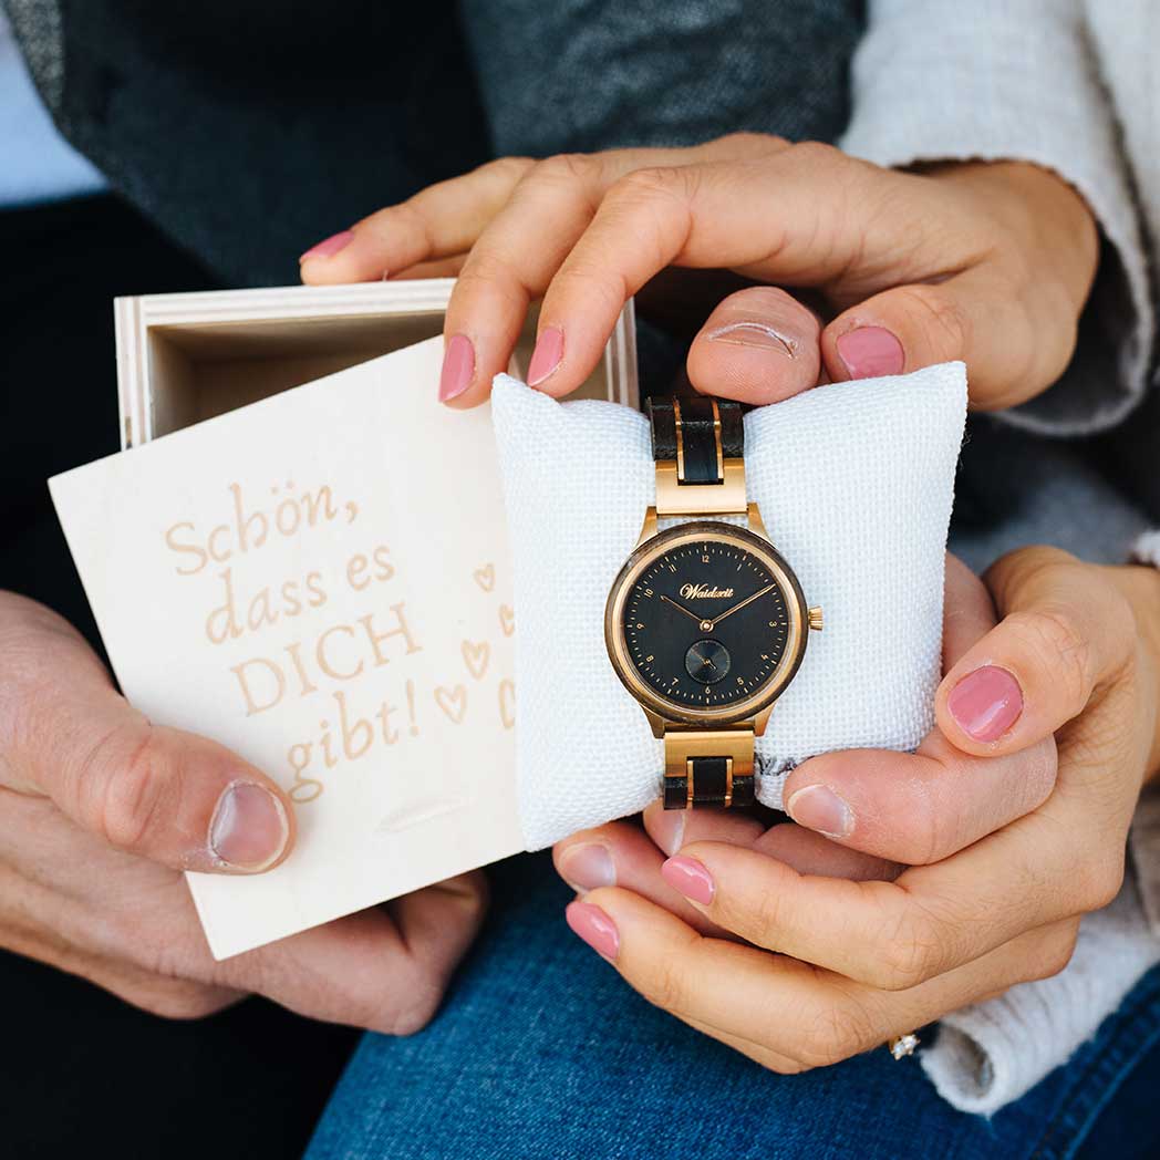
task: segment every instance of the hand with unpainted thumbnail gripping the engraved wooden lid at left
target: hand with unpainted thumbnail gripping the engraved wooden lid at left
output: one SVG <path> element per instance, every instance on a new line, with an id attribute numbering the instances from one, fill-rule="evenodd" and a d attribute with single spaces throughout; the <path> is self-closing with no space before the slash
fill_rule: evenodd
<path id="1" fill-rule="evenodd" d="M 172 1017 L 256 992 L 316 1018 L 420 1028 L 479 927 L 483 876 L 213 962 L 181 871 L 260 872 L 292 842 L 275 782 L 150 724 L 68 624 L 0 593 L 0 947 Z"/>

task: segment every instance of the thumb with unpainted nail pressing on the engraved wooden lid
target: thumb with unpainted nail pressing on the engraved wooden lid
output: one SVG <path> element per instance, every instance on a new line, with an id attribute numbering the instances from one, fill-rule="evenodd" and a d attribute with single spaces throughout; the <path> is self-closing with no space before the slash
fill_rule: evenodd
<path id="1" fill-rule="evenodd" d="M 254 873 L 293 840 L 285 793 L 208 738 L 153 725 L 64 621 L 0 606 L 0 784 L 50 797 L 111 846 L 176 870 Z"/>

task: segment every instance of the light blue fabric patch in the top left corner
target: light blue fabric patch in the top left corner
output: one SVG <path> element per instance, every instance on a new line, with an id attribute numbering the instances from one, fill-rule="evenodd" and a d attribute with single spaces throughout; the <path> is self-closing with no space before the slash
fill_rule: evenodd
<path id="1" fill-rule="evenodd" d="M 103 188 L 101 174 L 57 132 L 0 13 L 0 209 Z"/>

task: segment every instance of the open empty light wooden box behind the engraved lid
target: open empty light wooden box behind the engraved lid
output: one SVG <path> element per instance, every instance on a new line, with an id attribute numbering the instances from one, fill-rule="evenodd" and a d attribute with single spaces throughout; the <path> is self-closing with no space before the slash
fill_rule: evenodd
<path id="1" fill-rule="evenodd" d="M 146 295 L 116 300 L 128 449 L 441 333 L 454 278 Z M 528 318 L 510 372 L 535 345 Z M 632 304 L 575 398 L 637 406 Z"/>

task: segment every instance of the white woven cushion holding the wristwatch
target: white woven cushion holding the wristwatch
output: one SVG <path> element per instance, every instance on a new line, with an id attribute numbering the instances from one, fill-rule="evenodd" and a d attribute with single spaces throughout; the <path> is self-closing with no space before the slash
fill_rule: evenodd
<path id="1" fill-rule="evenodd" d="M 515 578 L 516 763 L 528 849 L 643 810 L 664 752 L 604 650 L 608 589 L 654 500 L 647 420 L 492 396 Z M 966 372 L 836 383 L 749 412 L 746 481 L 826 629 L 757 740 L 757 797 L 832 749 L 912 749 L 933 723 Z"/>

